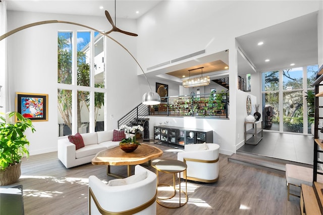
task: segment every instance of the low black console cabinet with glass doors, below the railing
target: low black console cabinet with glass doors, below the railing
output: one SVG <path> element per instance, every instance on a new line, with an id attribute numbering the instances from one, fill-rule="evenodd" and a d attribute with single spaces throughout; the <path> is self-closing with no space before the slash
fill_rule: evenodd
<path id="1" fill-rule="evenodd" d="M 176 126 L 154 126 L 154 143 L 184 147 L 185 144 L 212 143 L 213 131 Z"/>

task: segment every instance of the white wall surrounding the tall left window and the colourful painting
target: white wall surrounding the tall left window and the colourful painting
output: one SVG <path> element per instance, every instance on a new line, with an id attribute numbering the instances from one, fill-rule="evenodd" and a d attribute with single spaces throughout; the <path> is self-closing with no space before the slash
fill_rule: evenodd
<path id="1" fill-rule="evenodd" d="M 26 13 L 8 11 L 8 31 L 25 24 L 63 20 L 81 23 L 98 30 L 106 30 L 105 17 L 70 16 L 62 14 Z M 134 20 L 118 20 L 119 27 L 134 31 Z M 30 154 L 57 150 L 57 32 L 83 30 L 70 24 L 46 24 L 28 28 L 8 37 L 8 70 L 13 74 L 10 94 L 15 92 L 48 94 L 48 121 L 34 122 L 36 132 L 27 133 Z M 88 30 L 88 29 L 85 29 Z M 136 56 L 136 38 L 120 33 L 110 34 Z M 112 40 L 107 40 L 107 129 L 117 127 L 117 120 L 141 102 L 138 88 L 137 66 L 130 55 Z M 73 88 L 73 87 L 72 87 Z M 14 99 L 12 99 L 14 102 Z M 14 107 L 14 103 L 12 103 Z M 113 115 L 111 119 L 110 116 Z"/>

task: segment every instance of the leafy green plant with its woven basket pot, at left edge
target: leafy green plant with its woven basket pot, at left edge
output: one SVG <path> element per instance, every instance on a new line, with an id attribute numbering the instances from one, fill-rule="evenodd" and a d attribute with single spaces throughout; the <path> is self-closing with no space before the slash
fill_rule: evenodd
<path id="1" fill-rule="evenodd" d="M 30 119 L 24 118 L 17 112 L 7 114 L 9 117 L 17 117 L 18 122 L 12 123 L 6 119 L 6 114 L 0 116 L 0 185 L 9 185 L 17 182 L 21 175 L 21 158 L 29 156 L 27 146 L 29 141 L 24 132 L 30 128 L 35 131 Z"/>

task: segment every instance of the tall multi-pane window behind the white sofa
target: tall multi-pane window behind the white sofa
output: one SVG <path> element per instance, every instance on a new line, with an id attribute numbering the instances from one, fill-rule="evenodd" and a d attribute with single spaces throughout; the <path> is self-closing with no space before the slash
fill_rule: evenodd
<path id="1" fill-rule="evenodd" d="M 59 136 L 104 130 L 104 97 L 104 37 L 58 32 Z"/>

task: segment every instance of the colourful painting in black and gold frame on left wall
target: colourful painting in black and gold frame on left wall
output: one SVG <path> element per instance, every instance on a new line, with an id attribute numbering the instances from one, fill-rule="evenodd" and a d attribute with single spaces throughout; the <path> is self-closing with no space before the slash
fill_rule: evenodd
<path id="1" fill-rule="evenodd" d="M 48 121 L 48 94 L 16 92 L 15 103 L 16 112 L 25 118 L 34 122 Z"/>

